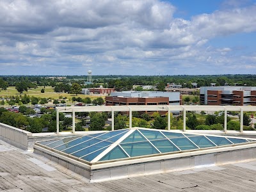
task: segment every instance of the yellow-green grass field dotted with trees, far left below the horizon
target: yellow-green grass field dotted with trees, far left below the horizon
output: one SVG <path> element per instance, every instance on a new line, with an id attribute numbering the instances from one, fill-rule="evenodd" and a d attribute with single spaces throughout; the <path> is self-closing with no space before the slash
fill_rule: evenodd
<path id="1" fill-rule="evenodd" d="M 21 95 L 29 95 L 29 96 L 34 96 L 34 97 L 42 97 L 42 98 L 52 98 L 52 99 L 59 99 L 60 96 L 62 97 L 67 97 L 67 99 L 71 99 L 72 97 L 81 97 L 82 99 L 84 97 L 90 97 L 91 99 L 95 99 L 97 97 L 103 97 L 105 96 L 102 95 L 83 95 L 83 94 L 78 94 L 78 95 L 73 95 L 69 93 L 56 93 L 54 92 L 53 88 L 51 86 L 45 86 L 45 92 L 41 93 L 42 88 L 44 86 L 38 86 L 38 88 L 32 88 L 31 90 L 28 90 L 28 92 L 23 92 Z M 20 95 L 19 92 L 15 89 L 15 86 L 10 86 L 7 88 L 7 90 L 1 90 L 0 92 L 0 97 L 10 97 L 10 96 L 16 96 Z"/>

